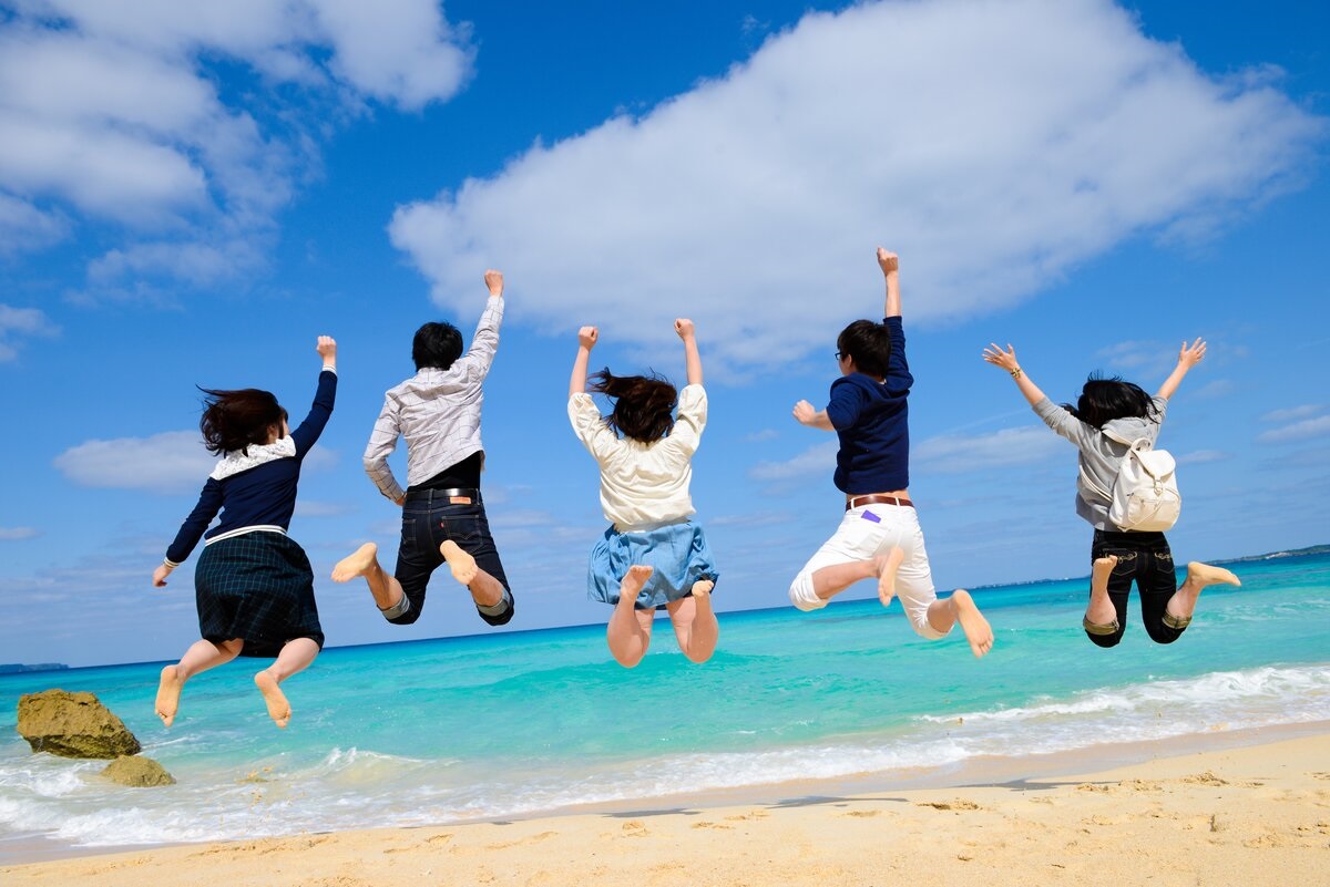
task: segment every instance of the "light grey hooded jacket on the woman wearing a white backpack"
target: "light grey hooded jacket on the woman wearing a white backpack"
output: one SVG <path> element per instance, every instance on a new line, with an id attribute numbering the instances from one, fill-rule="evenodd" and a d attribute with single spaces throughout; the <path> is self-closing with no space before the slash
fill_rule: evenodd
<path id="1" fill-rule="evenodd" d="M 1158 416 L 1149 418 L 1115 418 L 1100 430 L 1093 425 L 1087 425 L 1065 409 L 1047 397 L 1035 404 L 1035 414 L 1044 420 L 1048 428 L 1065 437 L 1080 450 L 1080 477 L 1076 479 L 1076 514 L 1089 521 L 1096 530 L 1117 530 L 1108 519 L 1109 501 L 1100 495 L 1095 487 L 1087 483 L 1087 477 L 1093 483 L 1105 490 L 1113 489 L 1117 479 L 1117 467 L 1127 455 L 1129 444 L 1120 441 L 1136 441 L 1145 438 L 1154 445 L 1160 436 L 1160 425 L 1164 424 L 1164 412 L 1168 401 L 1162 397 L 1154 398 L 1154 409 Z M 1112 436 L 1112 437 L 1111 437 Z M 1112 440 L 1119 438 L 1119 440 Z"/>

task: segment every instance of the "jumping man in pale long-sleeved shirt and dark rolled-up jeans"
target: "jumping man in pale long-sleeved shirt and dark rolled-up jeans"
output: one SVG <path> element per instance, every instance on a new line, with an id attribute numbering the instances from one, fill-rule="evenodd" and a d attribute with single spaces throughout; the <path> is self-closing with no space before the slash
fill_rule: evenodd
<path id="1" fill-rule="evenodd" d="M 467 587 L 480 617 L 503 625 L 512 591 L 499 560 L 480 498 L 485 451 L 480 442 L 484 380 L 499 348 L 503 274 L 485 271 L 489 299 L 471 349 L 450 323 L 428 323 L 411 347 L 416 374 L 388 390 L 364 450 L 364 470 L 379 491 L 402 506 L 398 566 L 379 566 L 378 546 L 360 546 L 332 570 L 335 582 L 364 576 L 384 619 L 410 625 L 420 617 L 426 586 L 443 563 Z M 407 441 L 407 489 L 388 467 L 398 438 Z"/>

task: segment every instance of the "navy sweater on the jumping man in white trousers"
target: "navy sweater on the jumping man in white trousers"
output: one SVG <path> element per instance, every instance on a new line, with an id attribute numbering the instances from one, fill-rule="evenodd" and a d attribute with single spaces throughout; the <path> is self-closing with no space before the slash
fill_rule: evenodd
<path id="1" fill-rule="evenodd" d="M 841 438 L 835 455 L 837 489 L 851 495 L 910 486 L 910 424 L 906 398 L 914 376 L 906 364 L 900 317 L 882 321 L 891 337 L 887 376 L 878 381 L 850 373 L 831 382 L 827 418 Z"/>

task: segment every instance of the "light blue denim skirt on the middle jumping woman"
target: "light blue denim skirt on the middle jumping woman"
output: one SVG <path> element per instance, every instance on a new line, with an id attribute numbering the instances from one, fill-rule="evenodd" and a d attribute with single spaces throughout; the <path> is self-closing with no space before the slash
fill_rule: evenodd
<path id="1" fill-rule="evenodd" d="M 693 594 L 693 583 L 716 582 L 720 572 L 706 544 L 702 527 L 680 521 L 646 532 L 605 530 L 591 550 L 587 568 L 587 596 L 606 604 L 618 603 L 618 584 L 633 564 L 652 567 L 652 576 L 637 595 L 636 609 L 656 609 L 668 602 Z"/>

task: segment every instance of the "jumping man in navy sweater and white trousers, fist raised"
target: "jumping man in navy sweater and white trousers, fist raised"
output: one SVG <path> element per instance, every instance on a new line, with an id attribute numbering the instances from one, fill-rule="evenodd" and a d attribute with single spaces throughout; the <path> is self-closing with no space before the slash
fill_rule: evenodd
<path id="1" fill-rule="evenodd" d="M 914 377 L 906 364 L 900 325 L 900 262 L 878 247 L 887 282 L 886 317 L 880 324 L 855 320 L 837 337 L 841 378 L 831 382 L 826 409 L 807 401 L 794 405 L 802 425 L 835 432 L 835 485 L 845 493 L 841 527 L 803 566 L 790 586 L 799 609 L 821 609 L 859 582 L 875 578 L 882 605 L 900 598 L 915 632 L 938 640 L 960 623 L 974 655 L 994 645 L 992 628 L 963 588 L 938 598 L 923 546 L 923 530 L 910 501 L 908 397 Z"/>

